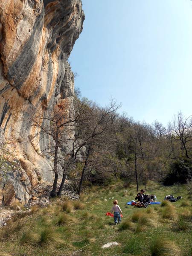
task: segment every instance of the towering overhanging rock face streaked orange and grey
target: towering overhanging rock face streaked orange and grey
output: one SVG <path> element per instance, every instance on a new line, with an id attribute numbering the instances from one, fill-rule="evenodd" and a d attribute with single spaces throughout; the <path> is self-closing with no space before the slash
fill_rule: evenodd
<path id="1" fill-rule="evenodd" d="M 73 96 L 67 59 L 82 31 L 81 6 L 81 0 L 0 2 L 0 129 L 17 166 L 3 177 L 0 204 L 26 203 L 39 179 L 52 182 L 52 161 L 38 154 L 49 137 L 30 141 L 28 113 L 44 115 Z"/>

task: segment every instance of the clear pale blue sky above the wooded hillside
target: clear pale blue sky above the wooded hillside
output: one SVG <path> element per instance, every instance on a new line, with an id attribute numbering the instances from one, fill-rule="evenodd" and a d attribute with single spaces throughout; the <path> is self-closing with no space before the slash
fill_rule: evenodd
<path id="1" fill-rule="evenodd" d="M 84 29 L 70 55 L 75 86 L 134 120 L 164 125 L 192 114 L 192 1 L 82 0 Z"/>

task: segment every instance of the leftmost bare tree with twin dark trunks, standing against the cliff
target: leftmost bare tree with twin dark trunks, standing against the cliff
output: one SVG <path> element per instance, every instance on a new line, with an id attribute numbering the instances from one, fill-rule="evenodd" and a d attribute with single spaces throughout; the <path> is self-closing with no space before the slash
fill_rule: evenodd
<path id="1" fill-rule="evenodd" d="M 78 130 L 78 122 L 81 118 L 84 119 L 84 115 L 87 109 L 84 108 L 85 102 L 80 102 L 76 97 L 63 99 L 53 108 L 47 109 L 45 114 L 42 113 L 30 113 L 32 127 L 35 128 L 31 140 L 36 137 L 43 138 L 44 134 L 50 137 L 51 142 L 49 146 L 41 150 L 42 153 L 51 154 L 54 157 L 53 171 L 54 182 L 51 191 L 51 197 L 57 195 L 56 188 L 58 183 L 58 163 L 63 166 L 63 178 L 61 181 L 61 187 L 58 194 L 61 194 L 62 186 L 66 177 L 66 168 L 71 164 L 71 159 L 77 159 L 79 157 L 78 152 L 83 145 L 78 145 L 78 138 L 76 130 Z M 38 141 L 39 143 L 39 141 Z M 65 148 L 68 153 L 63 156 L 59 154 L 59 149 Z M 62 151 L 62 150 L 61 150 Z"/>

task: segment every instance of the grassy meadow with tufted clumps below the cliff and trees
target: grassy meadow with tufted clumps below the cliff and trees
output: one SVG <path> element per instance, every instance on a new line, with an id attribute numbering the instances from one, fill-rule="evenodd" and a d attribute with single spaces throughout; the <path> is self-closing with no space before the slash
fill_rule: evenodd
<path id="1" fill-rule="evenodd" d="M 158 201 L 169 194 L 183 199 L 135 208 L 126 205 L 136 196 L 135 186 L 119 182 L 93 187 L 79 201 L 55 199 L 46 208 L 33 207 L 29 215 L 15 216 L 0 230 L 0 256 L 192 256 L 192 199 L 186 186 L 151 182 L 146 193 Z M 112 198 L 123 213 L 116 226 L 105 215 Z M 108 242 L 119 246 L 102 249 Z"/>

